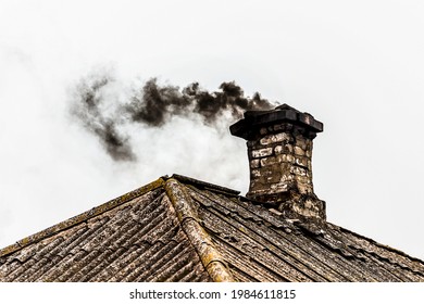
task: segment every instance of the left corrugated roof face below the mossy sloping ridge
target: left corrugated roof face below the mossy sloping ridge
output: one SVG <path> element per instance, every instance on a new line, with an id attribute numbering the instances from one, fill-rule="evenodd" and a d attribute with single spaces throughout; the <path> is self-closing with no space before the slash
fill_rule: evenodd
<path id="1" fill-rule="evenodd" d="M 210 280 L 163 188 L 7 252 L 1 281 Z"/>

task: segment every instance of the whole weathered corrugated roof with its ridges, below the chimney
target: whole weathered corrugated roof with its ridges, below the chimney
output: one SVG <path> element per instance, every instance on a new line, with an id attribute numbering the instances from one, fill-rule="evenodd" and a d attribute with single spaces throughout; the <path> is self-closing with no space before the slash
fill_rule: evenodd
<path id="1" fill-rule="evenodd" d="M 424 262 L 174 175 L 0 250 L 0 281 L 424 281 Z"/>

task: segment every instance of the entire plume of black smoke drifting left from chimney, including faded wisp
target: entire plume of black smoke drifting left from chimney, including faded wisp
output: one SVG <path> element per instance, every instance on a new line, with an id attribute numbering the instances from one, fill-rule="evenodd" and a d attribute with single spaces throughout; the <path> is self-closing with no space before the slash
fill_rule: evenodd
<path id="1" fill-rule="evenodd" d="M 195 113 L 200 115 L 203 124 L 216 126 L 220 119 L 228 117 L 224 114 L 229 114 L 236 121 L 247 110 L 269 110 L 275 106 L 258 92 L 252 98 L 245 97 L 235 81 L 223 83 L 219 91 L 209 92 L 198 83 L 179 89 L 176 86 L 159 85 L 157 78 L 151 78 L 141 88 L 134 89 L 126 101 L 116 101 L 114 110 L 108 112 L 104 93 L 113 81 L 110 75 L 82 79 L 75 86 L 71 111 L 87 130 L 98 137 L 114 161 L 136 161 L 129 136 L 120 131 L 120 127 L 125 124 L 159 128 L 170 122 L 172 116 L 189 117 Z M 232 123 L 228 122 L 228 126 Z"/>

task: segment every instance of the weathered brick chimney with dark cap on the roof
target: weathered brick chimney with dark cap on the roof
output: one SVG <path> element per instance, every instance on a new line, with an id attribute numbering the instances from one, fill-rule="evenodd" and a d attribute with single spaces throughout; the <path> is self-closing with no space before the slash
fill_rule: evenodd
<path id="1" fill-rule="evenodd" d="M 312 140 L 323 131 L 321 122 L 283 104 L 271 111 L 247 111 L 229 130 L 247 140 L 247 198 L 278 208 L 287 218 L 326 219 L 325 202 L 312 185 Z"/>

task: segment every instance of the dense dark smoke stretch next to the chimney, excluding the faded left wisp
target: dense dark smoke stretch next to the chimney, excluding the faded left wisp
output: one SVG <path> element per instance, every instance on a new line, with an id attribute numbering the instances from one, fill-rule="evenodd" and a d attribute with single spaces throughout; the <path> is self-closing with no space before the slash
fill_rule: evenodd
<path id="1" fill-rule="evenodd" d="M 198 83 L 194 83 L 179 90 L 175 86 L 160 86 L 158 80 L 148 80 L 142 89 L 132 98 L 126 105 L 130 121 L 142 123 L 151 127 L 164 125 L 170 116 L 188 116 L 190 113 L 200 114 L 204 123 L 213 125 L 224 112 L 241 118 L 247 110 L 271 109 L 267 100 L 259 93 L 253 98 L 245 98 L 242 89 L 234 81 L 223 83 L 222 91 L 208 92 L 202 90 Z"/>

